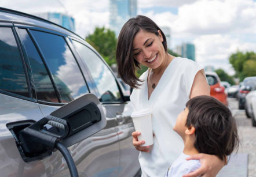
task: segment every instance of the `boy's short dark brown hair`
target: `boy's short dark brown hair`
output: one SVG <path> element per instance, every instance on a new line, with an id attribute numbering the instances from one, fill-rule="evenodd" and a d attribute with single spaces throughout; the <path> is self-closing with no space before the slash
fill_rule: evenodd
<path id="1" fill-rule="evenodd" d="M 228 107 L 211 96 L 193 97 L 186 103 L 186 126 L 195 127 L 195 148 L 200 153 L 225 157 L 238 149 L 236 120 Z"/>

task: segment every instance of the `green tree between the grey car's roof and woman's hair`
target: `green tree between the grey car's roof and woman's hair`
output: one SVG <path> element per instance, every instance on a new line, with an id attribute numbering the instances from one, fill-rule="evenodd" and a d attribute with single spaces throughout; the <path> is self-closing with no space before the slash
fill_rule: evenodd
<path id="1" fill-rule="evenodd" d="M 109 66 L 116 63 L 116 44 L 115 32 L 105 27 L 96 27 L 94 32 L 85 38 L 105 59 Z"/>

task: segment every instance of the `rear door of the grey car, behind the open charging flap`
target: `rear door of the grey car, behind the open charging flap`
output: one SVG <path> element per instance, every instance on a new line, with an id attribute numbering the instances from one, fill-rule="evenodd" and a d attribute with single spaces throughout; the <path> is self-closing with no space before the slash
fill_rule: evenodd
<path id="1" fill-rule="evenodd" d="M 91 92 L 64 36 L 34 27 L 18 27 L 30 61 L 36 100 L 43 115 Z M 119 144 L 115 123 L 69 148 L 79 176 L 118 175 Z M 48 159 L 47 175 L 69 175 L 65 160 L 56 152 Z"/>

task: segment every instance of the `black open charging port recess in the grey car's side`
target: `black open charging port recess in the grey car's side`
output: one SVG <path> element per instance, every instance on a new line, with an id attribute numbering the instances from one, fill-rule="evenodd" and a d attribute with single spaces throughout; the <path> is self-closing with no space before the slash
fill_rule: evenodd
<path id="1" fill-rule="evenodd" d="M 11 122 L 6 124 L 6 127 L 10 130 L 14 137 L 14 140 L 16 142 L 17 148 L 20 152 L 22 159 L 27 163 L 43 159 L 44 157 L 52 155 L 51 151 L 43 149 L 39 146 L 39 144 L 36 144 L 38 143 L 38 141 L 36 140 L 32 140 L 35 142 L 34 148 L 37 148 L 36 150 L 28 150 L 26 148 L 24 149 L 24 147 L 26 147 L 26 144 L 20 140 L 20 134 L 22 130 L 24 130 L 28 126 L 31 126 L 35 122 L 35 120 L 21 120 L 18 122 Z M 27 142 L 31 142 L 31 139 L 28 140 Z"/>

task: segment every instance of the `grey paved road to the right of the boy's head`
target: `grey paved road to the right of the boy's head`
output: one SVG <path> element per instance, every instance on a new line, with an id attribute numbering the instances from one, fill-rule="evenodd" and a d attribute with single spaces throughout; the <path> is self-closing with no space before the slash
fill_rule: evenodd
<path id="1" fill-rule="evenodd" d="M 238 110 L 236 99 L 228 99 L 229 107 L 238 126 L 240 146 L 237 154 L 248 154 L 247 175 L 256 177 L 256 127 L 251 125 L 244 110 Z"/>

